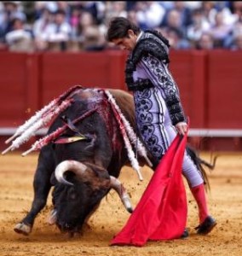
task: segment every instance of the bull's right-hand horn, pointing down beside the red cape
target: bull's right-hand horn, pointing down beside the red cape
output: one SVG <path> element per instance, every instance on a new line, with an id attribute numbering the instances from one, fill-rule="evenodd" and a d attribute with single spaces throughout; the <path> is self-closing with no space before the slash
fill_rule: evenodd
<path id="1" fill-rule="evenodd" d="M 118 178 L 110 176 L 110 180 L 111 180 L 111 188 L 115 189 L 121 199 L 121 201 L 124 204 L 124 207 L 126 208 L 126 210 L 130 213 L 133 212 L 133 207 L 131 205 L 131 201 L 130 201 L 130 196 L 127 194 L 126 189 L 124 189 L 124 186 L 122 183 L 120 183 L 120 181 L 118 180 Z"/>

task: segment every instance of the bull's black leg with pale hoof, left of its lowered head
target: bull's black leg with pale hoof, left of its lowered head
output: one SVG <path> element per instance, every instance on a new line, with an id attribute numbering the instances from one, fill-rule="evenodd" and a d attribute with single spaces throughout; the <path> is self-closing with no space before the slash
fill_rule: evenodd
<path id="1" fill-rule="evenodd" d="M 34 176 L 33 188 L 34 199 L 30 212 L 26 214 L 19 224 L 16 224 L 14 231 L 25 236 L 29 235 L 32 231 L 32 226 L 37 214 L 45 207 L 49 190 L 51 188 L 50 177 L 53 170 L 53 158 L 49 159 L 49 151 L 45 148 L 39 155 L 37 171 Z M 48 155 L 48 157 L 44 157 Z"/>

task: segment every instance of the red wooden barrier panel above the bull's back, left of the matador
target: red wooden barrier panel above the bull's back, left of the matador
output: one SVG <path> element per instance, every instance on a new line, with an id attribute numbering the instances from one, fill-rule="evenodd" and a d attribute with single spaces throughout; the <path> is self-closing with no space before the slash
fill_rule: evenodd
<path id="1" fill-rule="evenodd" d="M 46 53 L 41 59 L 41 102 L 48 103 L 76 84 L 124 89 L 122 66 L 124 55 L 118 51 Z"/>

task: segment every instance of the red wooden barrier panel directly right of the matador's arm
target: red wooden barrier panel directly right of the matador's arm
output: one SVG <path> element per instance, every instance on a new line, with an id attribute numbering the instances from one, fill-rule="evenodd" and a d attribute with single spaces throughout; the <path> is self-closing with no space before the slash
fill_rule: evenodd
<path id="1" fill-rule="evenodd" d="M 179 87 L 191 127 L 205 127 L 206 54 L 198 50 L 171 51 L 170 70 Z"/>

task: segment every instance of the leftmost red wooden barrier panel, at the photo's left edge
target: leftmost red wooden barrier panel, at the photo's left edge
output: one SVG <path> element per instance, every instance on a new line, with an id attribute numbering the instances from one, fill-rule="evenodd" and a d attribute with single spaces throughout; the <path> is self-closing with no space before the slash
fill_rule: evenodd
<path id="1" fill-rule="evenodd" d="M 1 53 L 0 126 L 16 126 L 38 107 L 37 55 Z"/>

